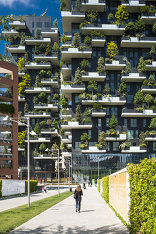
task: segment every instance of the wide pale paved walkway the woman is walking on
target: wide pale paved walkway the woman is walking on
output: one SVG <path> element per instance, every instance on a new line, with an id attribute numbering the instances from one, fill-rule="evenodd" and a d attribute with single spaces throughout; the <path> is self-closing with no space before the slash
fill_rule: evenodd
<path id="1" fill-rule="evenodd" d="M 73 195 L 51 207 L 10 234 L 128 234 L 127 228 L 104 202 L 97 188 L 87 188 L 81 212 L 75 212 Z"/>

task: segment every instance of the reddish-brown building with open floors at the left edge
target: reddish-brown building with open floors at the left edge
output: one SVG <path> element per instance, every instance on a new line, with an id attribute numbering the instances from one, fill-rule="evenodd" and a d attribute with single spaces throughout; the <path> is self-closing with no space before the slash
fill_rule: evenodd
<path id="1" fill-rule="evenodd" d="M 18 179 L 18 68 L 0 61 L 0 178 Z"/>

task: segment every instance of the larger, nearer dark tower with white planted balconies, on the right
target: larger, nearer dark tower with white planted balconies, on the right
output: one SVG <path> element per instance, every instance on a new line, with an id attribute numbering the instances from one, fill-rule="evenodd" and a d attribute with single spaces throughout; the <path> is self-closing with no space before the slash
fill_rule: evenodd
<path id="1" fill-rule="evenodd" d="M 156 155 L 156 2 L 61 1 L 64 157 L 91 180 Z"/>

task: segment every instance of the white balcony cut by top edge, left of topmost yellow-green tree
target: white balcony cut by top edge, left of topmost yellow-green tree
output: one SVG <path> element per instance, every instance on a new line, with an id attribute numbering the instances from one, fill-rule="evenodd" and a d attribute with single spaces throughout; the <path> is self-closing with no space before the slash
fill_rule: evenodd
<path id="1" fill-rule="evenodd" d="M 105 0 L 84 0 L 81 3 L 82 10 L 83 11 L 98 11 L 98 12 L 104 12 L 106 2 Z"/>

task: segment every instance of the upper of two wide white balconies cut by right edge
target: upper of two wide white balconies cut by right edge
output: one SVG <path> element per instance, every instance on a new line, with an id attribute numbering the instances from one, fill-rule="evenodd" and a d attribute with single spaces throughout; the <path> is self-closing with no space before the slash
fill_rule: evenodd
<path id="1" fill-rule="evenodd" d="M 156 37 L 122 37 L 121 47 L 151 48 L 156 46 Z"/>

